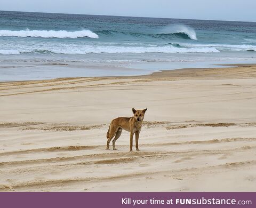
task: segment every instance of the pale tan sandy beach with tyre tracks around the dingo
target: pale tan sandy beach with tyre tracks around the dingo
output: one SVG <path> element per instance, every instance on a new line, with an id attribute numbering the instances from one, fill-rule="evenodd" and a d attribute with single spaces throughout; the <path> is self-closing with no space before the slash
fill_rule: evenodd
<path id="1" fill-rule="evenodd" d="M 132 107 L 141 151 L 106 150 Z M 0 191 L 256 191 L 253 65 L 5 82 L 0 108 Z"/>

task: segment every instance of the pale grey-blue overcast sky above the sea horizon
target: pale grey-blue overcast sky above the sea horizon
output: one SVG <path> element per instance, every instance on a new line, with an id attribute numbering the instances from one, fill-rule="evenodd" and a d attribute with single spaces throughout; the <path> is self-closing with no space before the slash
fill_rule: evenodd
<path id="1" fill-rule="evenodd" d="M 256 22 L 256 0 L 0 0 L 0 10 Z"/>

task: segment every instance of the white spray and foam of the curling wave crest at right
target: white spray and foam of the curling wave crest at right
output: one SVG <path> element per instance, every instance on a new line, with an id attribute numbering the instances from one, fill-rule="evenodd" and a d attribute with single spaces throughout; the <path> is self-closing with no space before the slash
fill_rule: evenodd
<path id="1" fill-rule="evenodd" d="M 174 33 L 185 33 L 191 39 L 197 39 L 196 32 L 193 28 L 186 25 L 169 25 L 166 26 L 161 33 L 163 34 L 174 34 Z"/>

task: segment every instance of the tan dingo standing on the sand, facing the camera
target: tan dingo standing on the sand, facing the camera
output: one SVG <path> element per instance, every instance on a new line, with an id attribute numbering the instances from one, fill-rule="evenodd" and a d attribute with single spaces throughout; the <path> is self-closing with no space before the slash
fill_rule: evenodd
<path id="1" fill-rule="evenodd" d="M 139 135 L 141 130 L 142 121 L 144 119 L 144 115 L 146 112 L 146 109 L 143 110 L 135 110 L 132 109 L 133 117 L 127 118 L 127 117 L 119 117 L 115 118 L 113 121 L 111 121 L 108 133 L 107 133 L 107 149 L 109 149 L 109 143 L 112 141 L 113 143 L 113 150 L 116 150 L 115 148 L 115 142 L 120 137 L 122 130 L 130 132 L 130 151 L 132 151 L 132 141 L 133 141 L 133 135 L 135 133 L 135 142 L 136 142 L 136 150 L 139 151 L 138 141 L 139 141 Z"/>

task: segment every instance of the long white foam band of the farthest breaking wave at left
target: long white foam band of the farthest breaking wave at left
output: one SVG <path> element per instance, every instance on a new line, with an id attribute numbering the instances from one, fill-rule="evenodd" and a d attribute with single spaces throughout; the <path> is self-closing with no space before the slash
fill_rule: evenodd
<path id="1" fill-rule="evenodd" d="M 44 37 L 44 38 L 78 38 L 90 37 L 99 38 L 99 36 L 90 30 L 66 31 L 66 30 L 0 30 L 0 36 L 15 37 Z"/>

